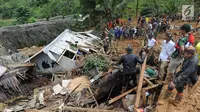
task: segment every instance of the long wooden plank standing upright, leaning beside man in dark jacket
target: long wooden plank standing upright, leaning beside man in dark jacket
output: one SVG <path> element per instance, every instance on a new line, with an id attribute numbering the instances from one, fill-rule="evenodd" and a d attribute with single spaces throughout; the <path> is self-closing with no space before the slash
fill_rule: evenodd
<path id="1" fill-rule="evenodd" d="M 135 100 L 135 106 L 134 106 L 135 109 L 134 110 L 136 110 L 139 107 L 146 62 L 147 62 L 147 56 L 145 57 L 144 63 L 142 64 L 142 69 L 141 69 L 139 84 L 138 84 L 138 88 L 137 88 L 137 94 L 136 94 L 136 100 Z"/>

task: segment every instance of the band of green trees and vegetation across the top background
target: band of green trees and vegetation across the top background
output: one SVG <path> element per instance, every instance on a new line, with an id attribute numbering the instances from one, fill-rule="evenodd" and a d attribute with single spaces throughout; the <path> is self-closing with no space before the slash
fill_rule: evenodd
<path id="1" fill-rule="evenodd" d="M 58 15 L 64 18 L 71 14 L 90 14 L 85 23 L 98 26 L 117 17 L 178 14 L 183 4 L 195 5 L 195 14 L 200 11 L 199 0 L 0 0 L 0 18 L 24 24 Z M 1 21 L 1 26 L 13 24 Z"/>

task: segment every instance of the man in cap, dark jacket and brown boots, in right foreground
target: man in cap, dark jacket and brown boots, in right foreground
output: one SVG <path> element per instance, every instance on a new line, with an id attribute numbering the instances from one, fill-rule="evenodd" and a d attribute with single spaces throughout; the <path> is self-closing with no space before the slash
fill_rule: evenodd
<path id="1" fill-rule="evenodd" d="M 168 90 L 165 93 L 165 98 L 172 94 L 172 90 L 176 88 L 177 94 L 173 103 L 178 104 L 183 98 L 184 86 L 187 84 L 194 85 L 197 80 L 197 64 L 198 58 L 195 56 L 195 48 L 189 46 L 184 53 L 184 62 L 181 70 L 175 74 L 175 78 L 168 85 Z"/>

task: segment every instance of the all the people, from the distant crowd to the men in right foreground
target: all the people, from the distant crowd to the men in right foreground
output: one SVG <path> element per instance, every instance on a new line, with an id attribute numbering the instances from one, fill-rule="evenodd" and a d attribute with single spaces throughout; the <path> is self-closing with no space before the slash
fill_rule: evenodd
<path id="1" fill-rule="evenodd" d="M 131 20 L 128 20 L 131 21 Z M 116 21 L 120 24 L 119 20 Z M 177 95 L 173 100 L 174 103 L 179 103 L 183 98 L 183 91 L 186 85 L 193 86 L 198 81 L 200 75 L 200 43 L 194 47 L 195 37 L 193 35 L 193 28 L 189 24 L 184 24 L 180 27 L 181 36 L 175 42 L 172 33 L 167 29 L 170 27 L 168 18 L 151 18 L 149 21 L 145 17 L 138 18 L 138 25 L 133 28 L 128 26 L 112 26 L 107 32 L 104 32 L 104 51 L 107 53 L 111 47 L 112 41 L 120 38 L 133 39 L 134 37 L 146 36 L 148 43 L 143 47 L 142 51 L 145 53 L 141 57 L 132 53 L 133 48 L 128 45 L 127 54 L 123 55 L 118 62 L 118 65 L 123 64 L 124 79 L 122 92 L 126 90 L 127 83 L 130 80 L 136 82 L 136 74 L 139 69 L 136 67 L 137 63 L 143 63 L 146 54 L 151 53 L 156 46 L 156 34 L 164 32 L 166 35 L 162 43 L 162 50 L 159 55 L 159 80 L 169 82 L 168 90 L 165 98 L 172 94 L 172 90 L 177 90 Z M 113 38 L 109 38 L 109 34 Z M 198 56 L 196 55 L 199 54 Z M 180 71 L 176 72 L 179 66 L 182 66 Z"/>

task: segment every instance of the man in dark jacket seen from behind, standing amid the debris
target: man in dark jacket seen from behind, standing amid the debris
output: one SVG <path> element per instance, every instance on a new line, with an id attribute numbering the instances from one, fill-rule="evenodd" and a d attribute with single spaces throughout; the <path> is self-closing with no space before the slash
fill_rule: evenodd
<path id="1" fill-rule="evenodd" d="M 132 79 L 134 83 L 136 83 L 136 74 L 140 72 L 139 68 L 136 68 L 137 63 L 142 64 L 143 59 L 140 59 L 138 56 L 134 55 L 133 48 L 131 45 L 128 45 L 126 48 L 127 54 L 123 55 L 118 62 L 118 65 L 123 64 L 123 83 L 122 83 L 122 93 L 126 91 L 126 87 L 129 83 L 129 79 Z"/>

